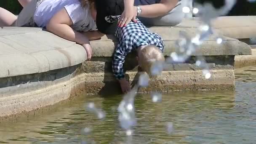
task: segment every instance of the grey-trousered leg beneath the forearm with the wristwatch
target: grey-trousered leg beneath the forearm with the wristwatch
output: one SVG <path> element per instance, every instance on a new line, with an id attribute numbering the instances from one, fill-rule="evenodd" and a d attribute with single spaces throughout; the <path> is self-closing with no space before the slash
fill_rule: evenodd
<path id="1" fill-rule="evenodd" d="M 142 18 L 139 17 L 140 21 L 148 27 L 151 26 L 177 26 L 181 23 L 182 19 L 185 17 L 185 13 L 183 13 L 182 8 L 185 5 L 186 0 L 180 0 L 176 7 L 173 8 L 165 16 L 160 16 L 156 18 Z"/>

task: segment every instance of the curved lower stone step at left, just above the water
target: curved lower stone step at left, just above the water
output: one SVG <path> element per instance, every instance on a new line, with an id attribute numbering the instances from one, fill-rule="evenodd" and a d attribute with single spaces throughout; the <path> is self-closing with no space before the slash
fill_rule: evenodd
<path id="1" fill-rule="evenodd" d="M 12 115 L 19 115 L 23 112 L 48 107 L 69 99 L 70 96 L 76 95 L 77 92 L 85 89 L 84 80 L 85 75 L 80 74 L 34 91 L 13 93 L 11 96 L 0 97 L 0 117 L 6 118 Z"/>

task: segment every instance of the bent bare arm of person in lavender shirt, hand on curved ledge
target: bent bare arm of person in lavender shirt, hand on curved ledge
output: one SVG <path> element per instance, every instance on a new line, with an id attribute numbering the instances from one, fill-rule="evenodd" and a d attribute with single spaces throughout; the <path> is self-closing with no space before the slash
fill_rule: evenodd
<path id="1" fill-rule="evenodd" d="M 87 52 L 87 59 L 91 59 L 92 49 L 89 39 L 80 32 L 73 30 L 73 24 L 65 8 L 56 13 L 46 25 L 46 29 L 59 37 L 74 41 L 82 45 Z"/>

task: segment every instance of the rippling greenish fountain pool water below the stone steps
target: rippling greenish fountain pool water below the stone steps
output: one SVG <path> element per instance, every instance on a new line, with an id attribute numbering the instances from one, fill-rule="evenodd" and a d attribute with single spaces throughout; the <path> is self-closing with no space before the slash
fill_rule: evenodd
<path id="1" fill-rule="evenodd" d="M 236 79 L 235 91 L 170 93 L 162 103 L 138 95 L 133 144 L 256 144 L 256 67 L 236 70 Z M 0 144 L 123 144 L 116 110 L 121 99 L 81 96 L 48 114 L 2 124 Z M 85 110 L 89 101 L 107 113 L 104 120 Z M 170 134 L 167 122 L 173 123 Z M 81 134 L 85 127 L 93 128 L 90 135 Z"/>

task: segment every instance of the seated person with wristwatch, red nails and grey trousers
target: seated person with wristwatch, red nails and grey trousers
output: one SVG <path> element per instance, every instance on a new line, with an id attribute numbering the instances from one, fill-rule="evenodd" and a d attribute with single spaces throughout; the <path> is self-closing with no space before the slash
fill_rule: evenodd
<path id="1" fill-rule="evenodd" d="M 118 25 L 123 27 L 138 16 L 146 26 L 177 26 L 184 18 L 182 8 L 185 1 L 124 0 L 125 8 Z"/>

